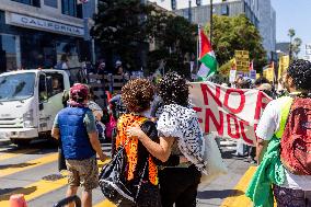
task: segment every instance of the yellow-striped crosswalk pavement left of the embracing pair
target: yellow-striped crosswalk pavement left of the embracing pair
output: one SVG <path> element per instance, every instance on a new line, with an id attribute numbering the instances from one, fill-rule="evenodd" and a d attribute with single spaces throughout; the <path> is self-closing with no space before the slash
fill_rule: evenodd
<path id="1" fill-rule="evenodd" d="M 103 145 L 110 153 L 110 145 Z M 51 207 L 65 197 L 67 189 L 66 172 L 57 171 L 58 153 L 56 149 L 18 149 L 10 146 L 0 148 L 0 207 L 10 207 L 13 194 L 24 194 L 28 207 Z M 99 161 L 101 168 L 104 163 Z M 114 207 L 100 189 L 93 193 L 93 205 Z"/>

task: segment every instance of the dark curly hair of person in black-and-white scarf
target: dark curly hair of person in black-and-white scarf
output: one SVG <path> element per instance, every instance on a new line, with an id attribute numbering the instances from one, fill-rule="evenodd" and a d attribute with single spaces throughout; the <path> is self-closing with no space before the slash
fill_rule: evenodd
<path id="1" fill-rule="evenodd" d="M 176 72 L 166 73 L 158 83 L 158 91 L 164 105 L 178 104 L 188 106 L 188 84 L 186 79 Z"/>

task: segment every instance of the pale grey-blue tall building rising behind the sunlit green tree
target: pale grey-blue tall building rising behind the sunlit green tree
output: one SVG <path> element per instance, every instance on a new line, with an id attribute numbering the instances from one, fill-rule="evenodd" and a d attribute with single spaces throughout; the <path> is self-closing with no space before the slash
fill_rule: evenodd
<path id="1" fill-rule="evenodd" d="M 210 0 L 150 0 L 192 22 L 205 25 L 210 20 Z M 175 3 L 172 3 L 174 1 Z M 234 16 L 244 13 L 258 28 L 267 57 L 276 47 L 276 12 L 270 0 L 214 0 L 214 14 Z M 199 3 L 199 5 L 198 5 Z M 172 8 L 172 5 L 174 5 Z M 191 5 L 191 12 L 189 12 Z M 189 18 L 191 15 L 191 18 Z"/>

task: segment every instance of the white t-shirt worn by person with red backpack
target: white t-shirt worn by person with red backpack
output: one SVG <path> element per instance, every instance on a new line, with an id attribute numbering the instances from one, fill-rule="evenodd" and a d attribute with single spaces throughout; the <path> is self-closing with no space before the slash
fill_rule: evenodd
<path id="1" fill-rule="evenodd" d="M 256 135 L 264 140 L 270 140 L 279 129 L 281 117 L 281 106 L 285 104 L 284 99 L 273 100 L 266 106 L 257 129 Z M 288 170 L 285 170 L 286 180 L 281 187 L 291 189 L 311 191 L 311 175 L 295 175 Z"/>

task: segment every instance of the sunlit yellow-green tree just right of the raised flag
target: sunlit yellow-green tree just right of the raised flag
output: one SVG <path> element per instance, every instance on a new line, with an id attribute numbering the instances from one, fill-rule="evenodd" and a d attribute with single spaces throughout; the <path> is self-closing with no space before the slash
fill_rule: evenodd
<path id="1" fill-rule="evenodd" d="M 205 32 L 209 34 L 208 24 Z M 214 15 L 212 48 L 220 66 L 234 57 L 234 50 L 249 50 L 255 69 L 262 69 L 267 61 L 260 32 L 244 14 Z"/>

